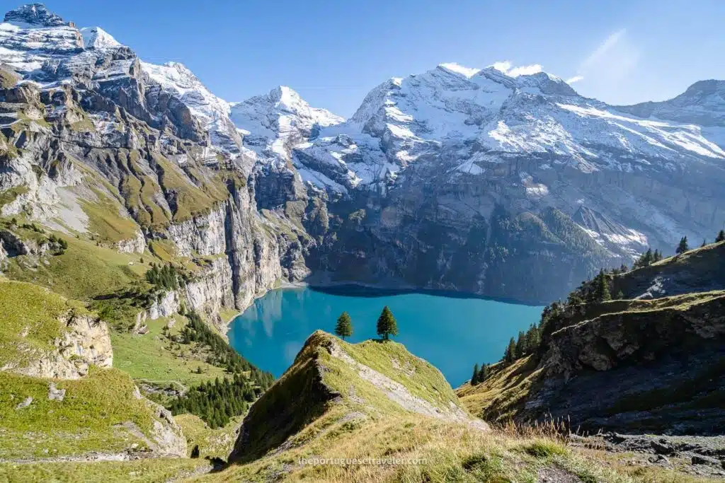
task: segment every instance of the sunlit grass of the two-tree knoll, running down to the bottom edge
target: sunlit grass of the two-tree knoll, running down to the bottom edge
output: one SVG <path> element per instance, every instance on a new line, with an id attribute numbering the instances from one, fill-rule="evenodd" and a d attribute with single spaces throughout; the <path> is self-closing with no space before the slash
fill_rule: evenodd
<path id="1" fill-rule="evenodd" d="M 320 332 L 312 337 L 315 336 L 321 339 L 318 344 L 324 338 L 333 338 Z M 357 345 L 339 340 L 336 343 L 348 354 L 354 353 L 357 361 L 376 366 L 376 370 L 402 382 L 411 392 L 416 385 L 428 387 L 431 394 L 426 395 L 426 400 L 442 402 L 442 396 L 445 400 L 452 394 L 450 387 L 441 390 L 444 380 L 438 384 L 442 377 L 436 369 L 407 353 L 402 345 L 372 341 Z M 415 361 L 419 371 L 409 376 L 410 367 L 407 372 L 397 369 L 393 359 Z M 654 470 L 655 476 L 650 479 L 632 478 L 615 463 L 602 464 L 602 455 L 568 448 L 566 442 L 545 432 L 520 434 L 513 429 L 484 432 L 466 424 L 409 413 L 386 398 L 378 387 L 360 379 L 357 369 L 329 356 L 326 350 L 310 347 L 309 341 L 294 366 L 268 392 L 267 398 L 274 400 L 262 398 L 257 404 L 273 406 L 275 400 L 286 398 L 275 392 L 305 387 L 304 381 L 294 384 L 290 379 L 307 377 L 305 369 L 315 360 L 325 368 L 323 381 L 331 390 L 339 392 L 340 399 L 328 403 L 323 413 L 310 414 L 313 417 L 286 440 L 282 451 L 271 451 L 249 463 L 233 464 L 218 474 L 200 477 L 200 481 L 535 482 L 539 471 L 552 468 L 577 475 L 584 482 L 668 481 L 668 475 L 660 470 Z M 434 387 L 442 395 L 434 395 Z M 298 400 L 298 406 L 307 402 Z M 308 466 L 300 463 L 301 458 L 399 458 L 403 461 L 381 465 Z M 674 478 L 671 481 L 688 481 Z"/>

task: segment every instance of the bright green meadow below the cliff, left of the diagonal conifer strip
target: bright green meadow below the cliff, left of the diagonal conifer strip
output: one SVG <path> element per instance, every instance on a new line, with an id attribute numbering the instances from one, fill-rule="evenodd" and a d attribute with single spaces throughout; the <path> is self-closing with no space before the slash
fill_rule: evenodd
<path id="1" fill-rule="evenodd" d="M 178 332 L 186 319 L 175 316 L 176 325 L 171 334 Z M 128 332 L 112 332 L 113 366 L 128 373 L 133 379 L 145 379 L 162 384 L 179 382 L 182 385 L 197 385 L 215 377 L 223 378 L 224 369 L 206 362 L 206 351 L 195 344 L 172 343 L 161 333 L 169 319 L 146 321 L 149 332 L 132 335 Z M 196 369 L 201 367 L 202 374 Z"/>

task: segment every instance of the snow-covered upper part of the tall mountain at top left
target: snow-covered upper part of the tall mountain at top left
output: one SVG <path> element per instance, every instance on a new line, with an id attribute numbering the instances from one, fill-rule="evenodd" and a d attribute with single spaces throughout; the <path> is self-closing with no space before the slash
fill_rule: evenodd
<path id="1" fill-rule="evenodd" d="M 241 137 L 229 119 L 229 105 L 214 96 L 183 64 L 139 62 L 131 49 L 103 29 L 76 28 L 43 4 L 25 5 L 5 15 L 0 24 L 0 62 L 46 88 L 71 80 L 90 80 L 101 85 L 113 81 L 112 88 L 117 89 L 123 78 L 138 77 L 144 95 L 149 95 L 146 101 L 157 104 L 156 91 L 173 96 L 186 106 L 193 123 L 209 138 L 210 148 L 239 154 Z M 157 126 L 167 122 L 147 120 Z M 186 122 L 173 115 L 168 121 Z M 192 133 L 196 127 L 179 127 L 178 133 L 196 140 L 198 134 Z M 215 157 L 210 154 L 210 159 Z"/>

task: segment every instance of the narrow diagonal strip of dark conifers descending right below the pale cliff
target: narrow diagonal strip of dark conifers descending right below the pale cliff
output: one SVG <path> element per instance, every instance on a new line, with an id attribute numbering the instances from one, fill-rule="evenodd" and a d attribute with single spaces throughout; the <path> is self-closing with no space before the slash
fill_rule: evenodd
<path id="1" fill-rule="evenodd" d="M 256 385 L 267 389 L 274 382 L 274 377 L 269 372 L 260 371 L 247 359 L 231 348 L 226 340 L 216 332 L 212 331 L 196 312 L 186 314 L 188 324 L 181 330 L 182 341 L 185 344 L 192 342 L 205 345 L 210 350 L 207 362 L 218 367 L 225 368 L 230 374 L 249 372 L 249 378 Z"/>

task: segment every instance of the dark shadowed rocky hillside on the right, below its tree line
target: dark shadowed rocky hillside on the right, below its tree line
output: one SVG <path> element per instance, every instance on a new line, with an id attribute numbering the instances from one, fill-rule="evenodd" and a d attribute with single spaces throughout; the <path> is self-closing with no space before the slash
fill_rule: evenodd
<path id="1" fill-rule="evenodd" d="M 462 387 L 463 403 L 587 432 L 722 432 L 724 259 L 713 243 L 606 277 L 619 300 L 547 308 L 541 348 Z"/>

